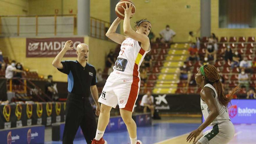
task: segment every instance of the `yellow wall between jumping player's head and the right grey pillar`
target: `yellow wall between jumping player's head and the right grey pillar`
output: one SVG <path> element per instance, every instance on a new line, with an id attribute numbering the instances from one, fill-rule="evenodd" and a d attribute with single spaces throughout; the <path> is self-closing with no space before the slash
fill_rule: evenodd
<path id="1" fill-rule="evenodd" d="M 169 24 L 170 29 L 176 32 L 173 40 L 184 42 L 188 39 L 189 31 L 196 31 L 200 27 L 200 0 L 151 0 L 149 3 L 134 0 L 133 2 L 136 14 L 131 19 L 131 26 L 135 25 L 136 20 L 147 18 L 152 24 L 152 32 L 157 37 Z M 191 8 L 185 8 L 186 5 L 190 5 Z M 121 32 L 123 33 L 122 28 Z"/>

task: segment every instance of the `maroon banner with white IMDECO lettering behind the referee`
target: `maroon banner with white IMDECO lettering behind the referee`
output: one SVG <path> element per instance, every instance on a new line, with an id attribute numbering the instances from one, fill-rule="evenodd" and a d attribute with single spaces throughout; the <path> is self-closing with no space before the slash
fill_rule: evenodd
<path id="1" fill-rule="evenodd" d="M 84 43 L 84 38 L 26 38 L 26 57 L 55 57 L 65 42 L 73 41 L 74 49 L 67 51 L 64 57 L 77 57 L 77 45 Z"/>

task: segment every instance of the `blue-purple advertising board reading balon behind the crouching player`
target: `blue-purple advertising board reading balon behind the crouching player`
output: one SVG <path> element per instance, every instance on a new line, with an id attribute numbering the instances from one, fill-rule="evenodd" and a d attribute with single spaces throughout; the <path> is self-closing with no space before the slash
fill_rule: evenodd
<path id="1" fill-rule="evenodd" d="M 232 106 L 228 109 L 228 113 L 233 124 L 256 123 L 256 100 L 232 99 L 231 104 Z M 204 121 L 204 118 L 202 118 L 202 122 Z"/>

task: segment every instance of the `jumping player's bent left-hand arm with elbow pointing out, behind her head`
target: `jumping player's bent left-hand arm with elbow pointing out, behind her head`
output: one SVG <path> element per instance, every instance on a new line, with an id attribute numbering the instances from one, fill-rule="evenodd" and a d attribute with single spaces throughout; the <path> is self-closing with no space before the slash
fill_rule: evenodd
<path id="1" fill-rule="evenodd" d="M 108 38 L 110 38 L 111 40 L 113 40 L 114 42 L 118 43 L 118 44 L 122 44 L 122 42 L 126 39 L 124 35 L 121 35 L 119 33 L 115 33 L 118 24 L 120 24 L 121 19 L 119 17 L 117 17 L 115 19 L 115 21 L 111 24 L 111 26 L 109 27 L 109 30 L 106 33 L 106 36 Z"/>

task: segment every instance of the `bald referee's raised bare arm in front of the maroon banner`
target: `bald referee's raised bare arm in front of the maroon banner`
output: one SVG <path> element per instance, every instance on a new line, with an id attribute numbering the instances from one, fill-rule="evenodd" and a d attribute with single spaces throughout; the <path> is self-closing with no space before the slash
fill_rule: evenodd
<path id="1" fill-rule="evenodd" d="M 61 50 L 61 52 L 59 52 L 57 54 L 57 56 L 54 58 L 53 62 L 52 62 L 52 65 L 56 68 L 59 68 L 59 69 L 63 69 L 63 65 L 61 63 L 61 60 L 62 58 L 64 57 L 65 53 L 68 51 L 68 50 L 71 50 L 73 49 L 74 47 L 71 47 L 71 45 L 73 45 L 73 42 L 71 40 L 68 40 L 65 45 L 64 45 L 64 48 Z"/>

